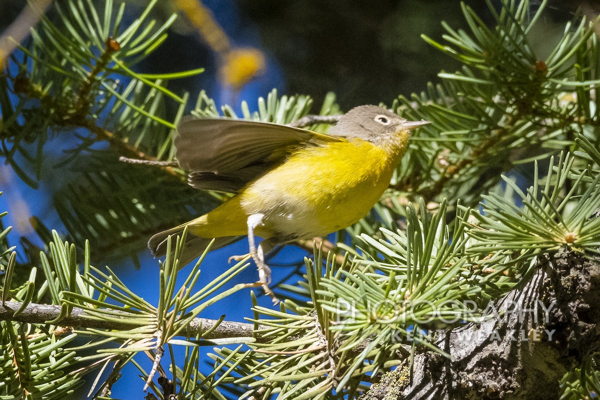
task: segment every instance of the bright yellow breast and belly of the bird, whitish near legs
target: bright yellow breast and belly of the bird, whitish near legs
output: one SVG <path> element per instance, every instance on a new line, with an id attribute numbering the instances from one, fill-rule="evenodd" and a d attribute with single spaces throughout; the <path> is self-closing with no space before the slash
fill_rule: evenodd
<path id="1" fill-rule="evenodd" d="M 190 230 L 203 237 L 242 235 L 247 217 L 261 213 L 258 236 L 282 242 L 322 236 L 361 219 L 388 187 L 396 162 L 394 154 L 357 139 L 306 148 Z"/>

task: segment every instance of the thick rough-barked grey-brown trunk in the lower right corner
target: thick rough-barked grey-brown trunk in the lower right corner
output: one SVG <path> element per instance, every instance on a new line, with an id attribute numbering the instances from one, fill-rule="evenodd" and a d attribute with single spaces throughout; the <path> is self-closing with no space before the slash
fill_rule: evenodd
<path id="1" fill-rule="evenodd" d="M 392 372 L 364 399 L 558 399 L 560 378 L 600 347 L 599 304 L 600 264 L 560 251 L 495 304 L 523 313 L 446 332 L 437 345 L 452 359 L 418 354 L 412 384 Z"/>

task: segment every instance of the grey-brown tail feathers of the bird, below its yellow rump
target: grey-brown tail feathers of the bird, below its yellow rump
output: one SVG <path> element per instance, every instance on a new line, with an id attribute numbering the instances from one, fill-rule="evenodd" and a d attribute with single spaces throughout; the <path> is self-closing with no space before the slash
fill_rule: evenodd
<path id="1" fill-rule="evenodd" d="M 163 257 L 167 253 L 167 239 L 169 236 L 173 236 L 172 246 L 175 246 L 176 237 L 182 236 L 185 225 L 181 225 L 175 228 L 171 228 L 166 231 L 155 234 L 148 240 L 148 248 L 154 255 L 154 257 Z M 221 247 L 227 246 L 230 243 L 236 242 L 241 239 L 242 236 L 224 236 L 215 238 L 215 242 L 211 246 L 211 250 L 220 249 Z M 205 251 L 206 246 L 211 243 L 212 237 L 199 237 L 190 231 L 188 231 L 184 246 L 179 254 L 179 268 L 185 267 L 191 263 L 195 258 L 200 257 L 202 252 Z"/>

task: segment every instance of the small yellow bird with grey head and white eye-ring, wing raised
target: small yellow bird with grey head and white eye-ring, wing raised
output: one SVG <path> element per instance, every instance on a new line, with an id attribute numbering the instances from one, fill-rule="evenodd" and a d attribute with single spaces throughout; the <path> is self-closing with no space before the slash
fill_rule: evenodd
<path id="1" fill-rule="evenodd" d="M 259 280 L 269 288 L 265 254 L 275 245 L 311 239 L 359 221 L 389 185 L 409 132 L 428 124 L 407 121 L 377 106 L 341 116 L 328 134 L 239 119 L 187 119 L 175 137 L 179 166 L 199 189 L 235 193 L 223 204 L 151 237 L 152 254 L 166 254 L 167 238 L 187 227 L 181 267 L 211 242 L 217 249 L 248 235 Z M 263 241 L 257 246 L 255 236 Z M 236 260 L 241 257 L 232 257 Z"/>

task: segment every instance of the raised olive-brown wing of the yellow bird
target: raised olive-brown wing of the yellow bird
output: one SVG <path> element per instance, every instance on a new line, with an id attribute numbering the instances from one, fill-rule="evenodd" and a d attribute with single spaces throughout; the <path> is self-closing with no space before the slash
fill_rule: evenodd
<path id="1" fill-rule="evenodd" d="M 235 193 L 304 146 L 344 141 L 286 125 L 241 119 L 185 119 L 176 157 L 191 186 Z"/>

